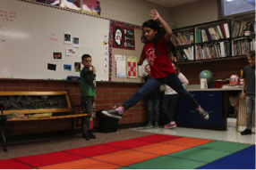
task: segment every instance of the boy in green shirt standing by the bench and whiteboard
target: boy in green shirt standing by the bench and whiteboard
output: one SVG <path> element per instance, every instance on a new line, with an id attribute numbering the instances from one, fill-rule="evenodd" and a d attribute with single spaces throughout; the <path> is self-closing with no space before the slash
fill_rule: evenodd
<path id="1" fill-rule="evenodd" d="M 84 66 L 80 72 L 80 89 L 81 89 L 81 108 L 89 114 L 89 117 L 82 118 L 84 137 L 87 141 L 96 139 L 96 136 L 90 132 L 90 117 L 94 99 L 96 98 L 96 68 L 91 65 L 89 54 L 81 56 L 81 64 Z"/>

